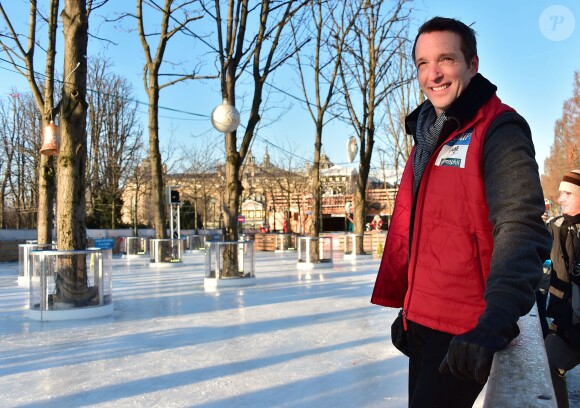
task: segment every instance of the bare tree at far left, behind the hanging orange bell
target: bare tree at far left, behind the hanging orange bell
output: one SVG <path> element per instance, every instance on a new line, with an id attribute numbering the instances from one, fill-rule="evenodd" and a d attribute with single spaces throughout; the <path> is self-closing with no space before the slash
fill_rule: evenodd
<path id="1" fill-rule="evenodd" d="M 36 101 L 39 111 L 42 113 L 43 127 L 56 117 L 54 107 L 54 74 L 55 74 L 55 56 L 56 56 L 56 30 L 58 19 L 59 0 L 50 0 L 49 12 L 47 19 L 47 43 L 42 47 L 46 50 L 46 64 L 44 72 L 44 92 L 36 78 L 34 71 L 34 55 L 37 48 L 37 19 L 40 15 L 37 9 L 36 0 L 30 0 L 30 13 L 28 42 L 26 46 L 20 41 L 20 36 L 14 30 L 9 16 L 4 11 L 0 3 L 0 13 L 8 27 L 8 35 L 3 37 L 10 39 L 12 46 L 7 44 L 4 39 L 0 38 L 0 45 L 12 61 L 15 69 L 28 80 L 32 95 Z M 23 61 L 25 68 L 21 68 L 19 61 Z M 41 156 L 40 171 L 38 175 L 38 222 L 37 233 L 38 243 L 43 244 L 50 242 L 52 237 L 52 227 L 54 219 L 54 199 L 56 189 L 55 164 L 52 156 Z"/>

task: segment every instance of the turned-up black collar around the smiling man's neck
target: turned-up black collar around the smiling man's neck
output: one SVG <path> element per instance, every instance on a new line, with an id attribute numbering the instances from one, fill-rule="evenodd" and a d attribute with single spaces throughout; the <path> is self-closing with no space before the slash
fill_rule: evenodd
<path id="1" fill-rule="evenodd" d="M 481 74 L 475 74 L 475 76 L 469 81 L 467 88 L 459 95 L 459 98 L 445 111 L 445 115 L 451 120 L 454 120 L 458 124 L 458 128 L 462 126 L 463 123 L 472 119 L 479 108 L 485 104 L 489 98 L 495 94 L 497 91 L 497 86 L 489 82 Z M 409 135 L 414 135 L 417 129 L 417 119 L 419 118 L 419 112 L 421 112 L 421 107 L 427 101 L 419 105 L 413 112 L 407 116 L 405 119 L 405 131 Z"/>

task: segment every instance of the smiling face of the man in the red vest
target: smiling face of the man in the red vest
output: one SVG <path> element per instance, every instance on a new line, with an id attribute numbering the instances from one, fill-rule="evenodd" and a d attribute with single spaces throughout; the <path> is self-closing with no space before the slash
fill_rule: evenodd
<path id="1" fill-rule="evenodd" d="M 415 45 L 419 86 L 435 107 L 437 116 L 447 109 L 477 74 L 479 59 L 468 65 L 461 38 L 451 31 L 423 33 Z"/>

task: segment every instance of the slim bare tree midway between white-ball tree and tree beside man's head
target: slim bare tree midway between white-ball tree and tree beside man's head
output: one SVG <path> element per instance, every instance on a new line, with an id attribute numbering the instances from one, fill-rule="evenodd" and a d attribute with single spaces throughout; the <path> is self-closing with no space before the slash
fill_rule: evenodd
<path id="1" fill-rule="evenodd" d="M 307 19 L 311 28 L 310 35 L 314 38 L 311 47 L 303 48 L 296 53 L 296 65 L 300 76 L 302 91 L 306 101 L 306 108 L 315 127 L 314 162 L 312 166 L 312 223 L 310 235 L 318 236 L 321 225 L 321 185 L 320 185 L 320 157 L 322 150 L 322 133 L 325 124 L 332 119 L 328 118 L 328 111 L 332 108 L 336 97 L 335 85 L 339 78 L 339 67 L 345 40 L 360 12 L 360 8 L 346 7 L 348 0 L 316 0 L 307 7 Z M 349 14 L 348 12 L 351 11 Z M 298 48 L 299 31 L 294 30 L 295 45 Z M 318 251 L 311 254 L 314 260 L 318 259 Z"/>

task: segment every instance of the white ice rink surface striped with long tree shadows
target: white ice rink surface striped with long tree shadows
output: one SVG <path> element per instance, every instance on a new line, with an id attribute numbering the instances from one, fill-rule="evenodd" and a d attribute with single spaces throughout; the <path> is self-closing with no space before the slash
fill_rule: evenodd
<path id="1" fill-rule="evenodd" d="M 117 258 L 113 316 L 44 323 L 17 264 L 0 264 L 1 406 L 407 406 L 396 311 L 369 303 L 377 259 L 306 273 L 296 254 L 256 258 L 255 286 L 213 292 L 202 254 L 163 269 Z"/>

